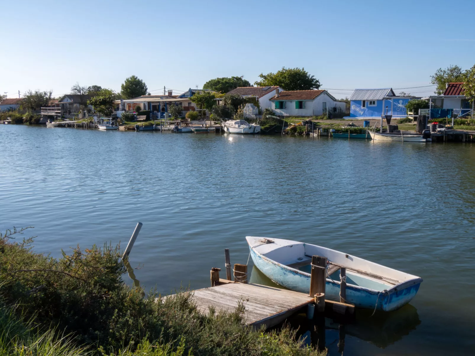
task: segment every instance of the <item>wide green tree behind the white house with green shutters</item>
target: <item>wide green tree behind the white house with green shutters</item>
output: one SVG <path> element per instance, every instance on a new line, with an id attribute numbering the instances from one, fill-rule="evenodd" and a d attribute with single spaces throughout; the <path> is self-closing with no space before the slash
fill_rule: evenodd
<path id="1" fill-rule="evenodd" d="M 282 67 L 277 73 L 260 74 L 257 86 L 280 86 L 284 90 L 311 90 L 320 88 L 320 82 L 304 68 Z"/>

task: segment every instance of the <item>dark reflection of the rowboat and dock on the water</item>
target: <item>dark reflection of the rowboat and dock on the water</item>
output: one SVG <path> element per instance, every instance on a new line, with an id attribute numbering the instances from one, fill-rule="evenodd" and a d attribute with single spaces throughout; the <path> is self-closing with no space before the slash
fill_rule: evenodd
<path id="1" fill-rule="evenodd" d="M 252 268 L 249 281 L 283 288 L 267 278 L 256 266 Z M 297 337 L 306 338 L 307 344 L 311 343 L 319 348 L 334 349 L 335 337 L 338 337 L 336 349 L 339 353 L 344 350 L 344 341 L 347 335 L 370 342 L 377 347 L 385 348 L 409 335 L 420 324 L 417 309 L 410 304 L 390 312 L 377 311 L 372 317 L 371 314 L 372 310 L 356 309 L 352 320 L 344 318 L 308 320 L 305 314 L 302 313 L 290 317 L 285 323 L 292 328 L 298 328 Z M 282 325 L 280 324 L 276 328 L 280 328 Z M 327 340 L 327 334 L 329 334 L 331 342 Z"/>

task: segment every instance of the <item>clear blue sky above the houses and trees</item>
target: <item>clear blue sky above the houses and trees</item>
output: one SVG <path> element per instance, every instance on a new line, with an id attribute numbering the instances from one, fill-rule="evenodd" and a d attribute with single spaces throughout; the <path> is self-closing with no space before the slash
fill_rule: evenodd
<path id="1" fill-rule="evenodd" d="M 283 66 L 304 67 L 338 98 L 424 86 L 439 67 L 475 64 L 474 13 L 473 0 L 8 1 L 0 92 L 60 95 L 76 82 L 118 91 L 137 75 L 152 94 L 179 93 Z"/>

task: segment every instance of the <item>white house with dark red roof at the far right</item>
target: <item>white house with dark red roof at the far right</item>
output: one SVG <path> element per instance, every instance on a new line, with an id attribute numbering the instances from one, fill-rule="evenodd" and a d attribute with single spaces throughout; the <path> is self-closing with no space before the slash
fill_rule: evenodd
<path id="1" fill-rule="evenodd" d="M 464 83 L 447 83 L 442 95 L 430 95 L 423 99 L 429 101 L 429 118 L 452 117 L 452 114 L 462 117 L 469 114 L 474 116 L 474 101 L 464 94 Z"/>

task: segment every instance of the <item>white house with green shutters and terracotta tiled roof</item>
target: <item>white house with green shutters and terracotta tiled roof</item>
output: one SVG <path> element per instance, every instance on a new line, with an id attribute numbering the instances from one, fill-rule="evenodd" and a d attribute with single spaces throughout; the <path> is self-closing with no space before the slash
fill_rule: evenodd
<path id="1" fill-rule="evenodd" d="M 275 92 L 270 99 L 272 110 L 282 116 L 343 115 L 346 103 L 326 90 L 292 90 Z"/>

